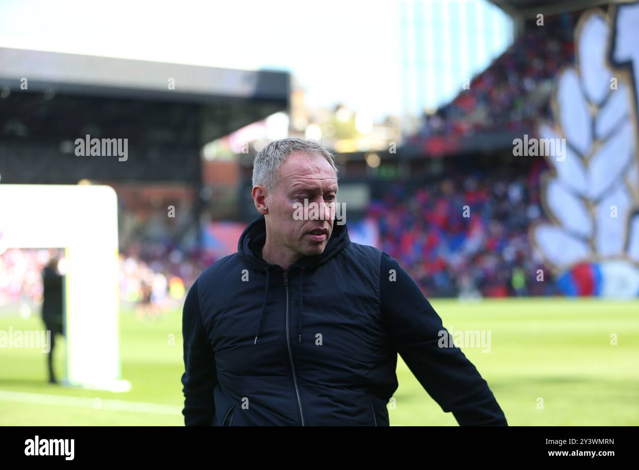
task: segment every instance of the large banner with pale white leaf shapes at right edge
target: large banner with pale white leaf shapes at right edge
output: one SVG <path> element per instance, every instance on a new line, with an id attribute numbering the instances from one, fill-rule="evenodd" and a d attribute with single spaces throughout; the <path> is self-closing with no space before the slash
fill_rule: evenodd
<path id="1" fill-rule="evenodd" d="M 547 155 L 543 208 L 531 239 L 568 295 L 639 295 L 639 2 L 584 13 L 575 65 L 562 70 Z"/>

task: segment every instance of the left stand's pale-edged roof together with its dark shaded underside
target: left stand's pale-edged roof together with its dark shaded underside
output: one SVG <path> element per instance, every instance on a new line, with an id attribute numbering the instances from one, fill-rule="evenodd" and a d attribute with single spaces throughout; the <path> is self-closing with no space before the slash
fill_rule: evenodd
<path id="1" fill-rule="evenodd" d="M 287 72 L 1 47 L 0 64 L 5 182 L 200 184 L 203 145 L 289 107 Z M 124 139 L 126 166 L 78 158 L 75 141 L 87 135 Z"/>

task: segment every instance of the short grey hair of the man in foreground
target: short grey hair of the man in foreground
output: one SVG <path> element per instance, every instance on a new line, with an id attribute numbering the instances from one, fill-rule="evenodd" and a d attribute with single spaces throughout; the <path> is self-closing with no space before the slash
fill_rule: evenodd
<path id="1" fill-rule="evenodd" d="M 277 182 L 279 168 L 291 153 L 301 152 L 306 155 L 316 155 L 327 159 L 337 175 L 335 156 L 321 144 L 314 140 L 304 140 L 298 137 L 287 137 L 272 141 L 255 156 L 253 161 L 253 187 L 263 185 L 272 192 Z"/>

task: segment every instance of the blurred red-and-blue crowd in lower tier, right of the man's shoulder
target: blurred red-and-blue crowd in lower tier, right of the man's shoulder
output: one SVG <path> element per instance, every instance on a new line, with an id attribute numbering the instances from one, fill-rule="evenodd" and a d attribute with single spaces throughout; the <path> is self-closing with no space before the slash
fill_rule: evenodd
<path id="1" fill-rule="evenodd" d="M 542 217 L 539 169 L 452 172 L 415 191 L 393 185 L 367 216 L 378 221 L 381 249 L 427 296 L 552 295 L 528 239 Z"/>

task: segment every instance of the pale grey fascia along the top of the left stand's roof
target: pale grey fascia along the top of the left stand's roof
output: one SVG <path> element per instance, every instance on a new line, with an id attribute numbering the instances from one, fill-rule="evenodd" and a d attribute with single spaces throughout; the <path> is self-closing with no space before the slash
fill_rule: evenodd
<path id="1" fill-rule="evenodd" d="M 197 100 L 236 97 L 288 101 L 289 75 L 266 70 L 233 70 L 142 60 L 82 56 L 0 47 L 0 81 L 29 80 L 29 88 L 56 85 L 65 91 L 89 90 Z M 175 82 L 174 90 L 167 86 Z"/>

